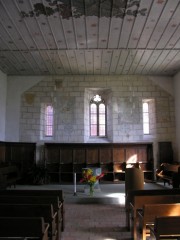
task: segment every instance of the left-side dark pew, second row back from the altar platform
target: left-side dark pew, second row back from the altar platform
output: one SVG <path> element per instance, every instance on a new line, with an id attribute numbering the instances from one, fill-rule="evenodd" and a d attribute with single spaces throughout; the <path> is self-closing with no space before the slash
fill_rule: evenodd
<path id="1" fill-rule="evenodd" d="M 24 195 L 0 195 L 0 204 L 52 204 L 54 212 L 57 212 L 58 239 L 61 238 L 62 203 L 57 196 L 24 196 Z"/>

